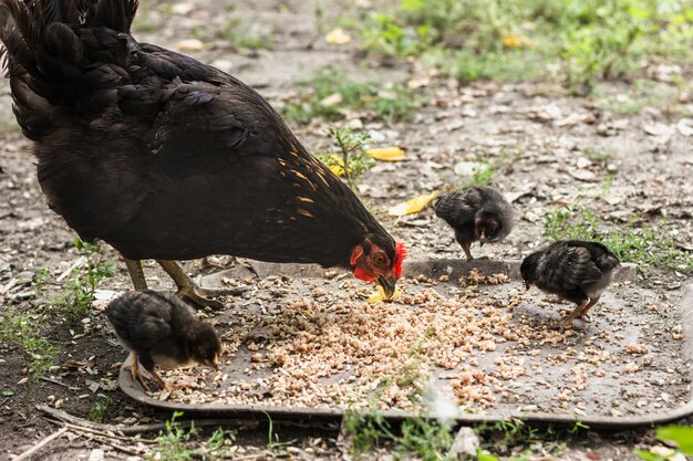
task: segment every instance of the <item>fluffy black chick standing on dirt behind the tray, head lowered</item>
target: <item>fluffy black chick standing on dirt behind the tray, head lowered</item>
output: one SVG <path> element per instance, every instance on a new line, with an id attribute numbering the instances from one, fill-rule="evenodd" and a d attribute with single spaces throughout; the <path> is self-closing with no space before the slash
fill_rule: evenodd
<path id="1" fill-rule="evenodd" d="M 497 242 L 513 230 L 513 207 L 490 187 L 470 187 L 442 196 L 435 213 L 455 230 L 467 260 L 474 259 L 469 252 L 473 242 Z"/>

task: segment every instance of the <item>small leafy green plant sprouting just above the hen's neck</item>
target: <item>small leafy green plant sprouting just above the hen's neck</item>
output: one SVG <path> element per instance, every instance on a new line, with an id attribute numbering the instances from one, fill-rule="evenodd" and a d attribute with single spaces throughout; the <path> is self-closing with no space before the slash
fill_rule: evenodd
<path id="1" fill-rule="evenodd" d="M 316 157 L 332 172 L 343 176 L 349 187 L 355 191 L 359 177 L 376 164 L 364 148 L 370 136 L 365 132 L 356 133 L 351 127 L 334 125 L 330 126 L 328 134 L 337 144 L 339 151 L 318 154 Z"/>

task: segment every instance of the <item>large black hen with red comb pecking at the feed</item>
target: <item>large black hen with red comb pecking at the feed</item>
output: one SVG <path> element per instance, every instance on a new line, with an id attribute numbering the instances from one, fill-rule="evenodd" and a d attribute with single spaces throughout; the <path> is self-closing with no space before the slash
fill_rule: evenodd
<path id="1" fill-rule="evenodd" d="M 391 295 L 405 251 L 269 103 L 190 57 L 137 43 L 136 0 L 0 0 L 14 114 L 49 206 L 82 239 L 156 259 L 232 254 L 341 266 Z M 211 293 L 214 294 L 214 293 Z"/>

